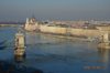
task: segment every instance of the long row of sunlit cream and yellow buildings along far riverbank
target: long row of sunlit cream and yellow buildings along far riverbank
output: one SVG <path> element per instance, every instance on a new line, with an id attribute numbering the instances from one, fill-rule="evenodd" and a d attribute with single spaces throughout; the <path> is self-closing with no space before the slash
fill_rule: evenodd
<path id="1" fill-rule="evenodd" d="M 108 33 L 107 31 L 98 29 L 76 29 L 76 28 L 61 28 L 61 27 L 47 27 L 47 25 L 41 25 L 41 32 L 79 36 L 79 38 L 90 38 Z"/>

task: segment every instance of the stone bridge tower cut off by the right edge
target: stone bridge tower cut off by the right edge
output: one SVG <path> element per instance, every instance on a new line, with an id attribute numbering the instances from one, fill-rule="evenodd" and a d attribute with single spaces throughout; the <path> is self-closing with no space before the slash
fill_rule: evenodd
<path id="1" fill-rule="evenodd" d="M 100 49 L 110 49 L 110 42 L 109 42 L 109 34 L 108 33 L 105 33 L 102 35 L 102 42 L 100 42 L 98 44 L 98 48 L 100 48 Z"/>

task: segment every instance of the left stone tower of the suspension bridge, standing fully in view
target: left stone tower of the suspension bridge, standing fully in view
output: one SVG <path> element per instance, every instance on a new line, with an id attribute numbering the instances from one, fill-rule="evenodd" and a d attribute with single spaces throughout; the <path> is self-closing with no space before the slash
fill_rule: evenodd
<path id="1" fill-rule="evenodd" d="M 14 49 L 14 55 L 25 55 L 25 48 L 24 46 L 24 35 L 23 33 L 16 33 L 15 34 L 15 49 Z"/>

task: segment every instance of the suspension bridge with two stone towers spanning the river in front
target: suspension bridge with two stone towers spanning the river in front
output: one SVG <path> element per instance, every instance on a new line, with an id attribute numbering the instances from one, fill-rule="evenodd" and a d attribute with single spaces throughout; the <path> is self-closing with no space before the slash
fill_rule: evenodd
<path id="1" fill-rule="evenodd" d="M 101 36 L 103 40 L 99 42 L 98 48 L 110 49 L 110 41 L 107 33 L 99 34 L 89 39 L 79 40 L 79 41 L 65 41 L 65 42 L 63 41 L 63 42 L 56 42 L 56 43 L 37 43 L 37 44 L 24 44 L 23 33 L 16 33 L 15 39 L 10 39 L 8 41 L 1 42 L 0 50 L 14 49 L 14 55 L 25 55 L 25 48 L 29 48 L 29 46 L 58 45 L 58 44 L 69 44 L 73 42 L 91 42 Z M 6 43 L 12 42 L 14 40 L 15 40 L 15 45 L 8 45 L 8 46 L 6 45 Z"/>

